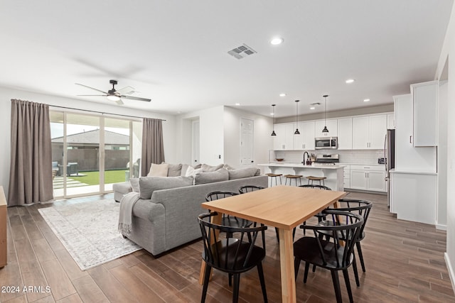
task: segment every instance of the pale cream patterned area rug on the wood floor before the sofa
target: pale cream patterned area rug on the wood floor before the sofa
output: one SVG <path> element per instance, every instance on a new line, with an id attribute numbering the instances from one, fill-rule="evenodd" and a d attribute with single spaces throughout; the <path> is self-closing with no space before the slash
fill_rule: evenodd
<path id="1" fill-rule="evenodd" d="M 38 209 L 81 270 L 141 249 L 117 231 L 119 206 L 114 199 Z"/>

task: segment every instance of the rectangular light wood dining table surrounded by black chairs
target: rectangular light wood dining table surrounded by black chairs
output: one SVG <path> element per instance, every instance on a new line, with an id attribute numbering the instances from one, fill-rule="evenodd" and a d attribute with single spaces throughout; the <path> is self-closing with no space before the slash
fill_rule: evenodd
<path id="1" fill-rule="evenodd" d="M 338 206 L 346 192 L 279 185 L 266 189 L 202 203 L 204 209 L 217 211 L 213 222 L 220 224 L 223 214 L 238 216 L 278 228 L 282 302 L 296 302 L 294 246 L 292 230 L 328 206 Z M 202 284 L 205 263 L 201 266 Z"/>

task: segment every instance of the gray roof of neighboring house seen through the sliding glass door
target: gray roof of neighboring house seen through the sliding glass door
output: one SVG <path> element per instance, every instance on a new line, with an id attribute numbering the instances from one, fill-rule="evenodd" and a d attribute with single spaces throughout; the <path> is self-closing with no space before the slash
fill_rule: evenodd
<path id="1" fill-rule="evenodd" d="M 99 144 L 100 130 L 85 131 L 83 133 L 75 133 L 66 137 L 68 144 Z M 52 143 L 63 143 L 63 137 L 53 138 Z M 105 131 L 105 144 L 107 145 L 129 145 L 129 136 L 112 131 Z"/>

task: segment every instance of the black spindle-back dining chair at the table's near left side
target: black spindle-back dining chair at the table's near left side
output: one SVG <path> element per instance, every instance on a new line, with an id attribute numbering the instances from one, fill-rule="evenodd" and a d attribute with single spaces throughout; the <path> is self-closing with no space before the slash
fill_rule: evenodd
<path id="1" fill-rule="evenodd" d="M 228 272 L 230 277 L 234 277 L 232 302 L 238 302 L 240 274 L 255 267 L 257 267 L 259 274 L 264 302 L 268 302 L 267 292 L 265 290 L 264 270 L 262 269 L 262 260 L 265 258 L 265 250 L 262 247 L 265 246 L 265 243 L 262 243 L 262 247 L 255 245 L 258 233 L 265 231 L 267 226 L 232 227 L 217 225 L 211 223 L 210 219 L 212 216 L 218 216 L 218 213 L 211 212 L 198 216 L 204 246 L 202 258 L 205 261 L 203 291 L 200 302 L 205 302 L 208 282 L 210 280 L 210 270 L 212 268 Z M 225 233 L 227 235 L 226 238 L 216 238 L 216 235 L 220 233 Z M 236 236 L 235 238 L 233 238 L 234 235 Z M 247 235 L 251 236 L 251 240 L 245 241 L 245 236 Z M 231 279 L 229 280 L 231 282 Z"/>

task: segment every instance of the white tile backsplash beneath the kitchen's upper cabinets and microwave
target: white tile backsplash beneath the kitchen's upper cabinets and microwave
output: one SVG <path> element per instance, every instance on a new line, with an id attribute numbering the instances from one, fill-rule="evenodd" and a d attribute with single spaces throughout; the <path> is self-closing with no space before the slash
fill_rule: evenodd
<path id="1" fill-rule="evenodd" d="M 269 160 L 284 158 L 285 162 L 301 162 L 305 150 L 270 150 Z M 378 158 L 384 158 L 384 150 L 306 150 L 311 155 L 338 153 L 340 162 L 358 164 L 378 164 Z"/>

